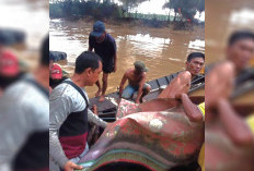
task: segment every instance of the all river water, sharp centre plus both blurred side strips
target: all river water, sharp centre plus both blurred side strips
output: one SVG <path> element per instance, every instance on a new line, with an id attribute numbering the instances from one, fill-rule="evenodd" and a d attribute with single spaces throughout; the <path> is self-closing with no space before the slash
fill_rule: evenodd
<path id="1" fill-rule="evenodd" d="M 49 26 L 50 49 L 67 52 L 68 63 L 62 63 L 62 68 L 72 74 L 74 59 L 88 49 L 93 23 L 49 20 L 48 3 L 42 0 L 2 0 L 0 4 L 0 27 L 19 28 L 27 34 L 25 48 L 14 51 L 28 68 L 34 66 Z M 253 9 L 252 0 L 206 0 L 206 28 L 194 28 L 193 32 L 106 24 L 118 49 L 118 70 L 109 75 L 107 93 L 116 90 L 123 73 L 136 60 L 145 61 L 150 69 L 148 81 L 183 70 L 190 51 L 205 51 L 205 39 L 206 64 L 218 61 L 224 57 L 226 42 L 232 30 L 254 30 Z M 88 88 L 91 97 L 95 90 L 95 86 Z"/>

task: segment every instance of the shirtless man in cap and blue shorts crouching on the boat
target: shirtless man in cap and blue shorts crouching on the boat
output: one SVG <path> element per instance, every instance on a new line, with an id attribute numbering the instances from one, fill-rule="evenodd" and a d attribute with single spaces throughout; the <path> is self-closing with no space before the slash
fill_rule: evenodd
<path id="1" fill-rule="evenodd" d="M 136 103 L 142 101 L 142 97 L 149 94 L 151 86 L 146 83 L 146 68 L 142 61 L 136 61 L 134 63 L 135 69 L 129 69 L 125 72 L 120 86 L 119 86 L 119 97 L 125 99 L 130 99 L 135 91 L 138 91 Z M 124 89 L 125 82 L 128 80 L 129 85 Z"/>

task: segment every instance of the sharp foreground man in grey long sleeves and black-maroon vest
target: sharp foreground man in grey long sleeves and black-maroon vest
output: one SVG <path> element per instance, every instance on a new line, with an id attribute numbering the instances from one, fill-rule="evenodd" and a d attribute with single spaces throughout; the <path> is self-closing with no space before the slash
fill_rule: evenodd
<path id="1" fill-rule="evenodd" d="M 76 59 L 74 74 L 58 85 L 49 96 L 49 167 L 58 171 L 81 169 L 76 163 L 83 157 L 89 123 L 106 127 L 89 109 L 89 98 L 83 87 L 93 86 L 102 72 L 101 58 L 91 51 L 82 52 Z"/>

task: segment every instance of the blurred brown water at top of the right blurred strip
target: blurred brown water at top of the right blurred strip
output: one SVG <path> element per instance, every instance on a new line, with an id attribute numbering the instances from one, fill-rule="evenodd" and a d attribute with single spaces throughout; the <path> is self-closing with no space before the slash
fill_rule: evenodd
<path id="1" fill-rule="evenodd" d="M 224 58 L 228 37 L 234 30 L 254 30 L 253 0 L 206 0 L 206 64 Z"/>

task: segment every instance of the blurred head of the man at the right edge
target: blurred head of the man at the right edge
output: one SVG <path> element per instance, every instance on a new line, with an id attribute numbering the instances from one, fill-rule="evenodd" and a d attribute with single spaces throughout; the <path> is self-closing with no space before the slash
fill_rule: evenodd
<path id="1" fill-rule="evenodd" d="M 228 41 L 227 57 L 238 71 L 243 70 L 254 54 L 254 33 L 239 30 L 233 33 Z"/>

